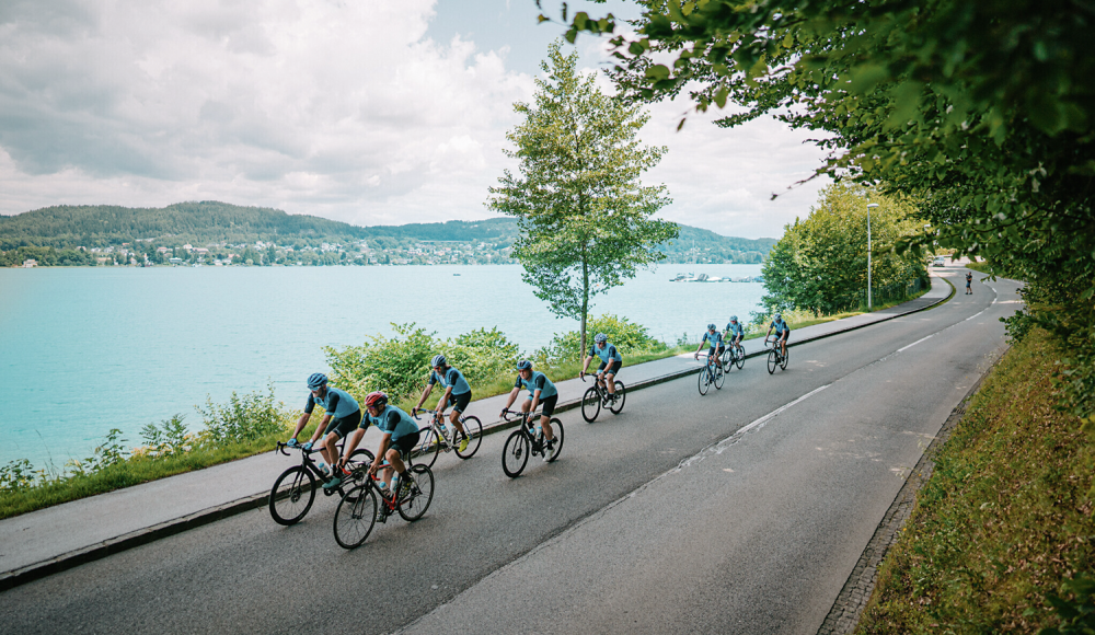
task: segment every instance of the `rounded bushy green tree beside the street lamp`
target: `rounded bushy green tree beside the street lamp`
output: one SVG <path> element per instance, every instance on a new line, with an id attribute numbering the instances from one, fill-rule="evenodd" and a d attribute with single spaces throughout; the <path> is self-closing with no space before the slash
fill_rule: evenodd
<path id="1" fill-rule="evenodd" d="M 762 302 L 770 311 L 806 309 L 832 314 L 866 304 L 867 203 L 878 203 L 871 212 L 875 292 L 926 276 L 920 258 L 899 256 L 888 246 L 907 235 L 915 222 L 903 220 L 908 203 L 842 184 L 821 192 L 817 207 L 805 220 L 787 226 L 764 262 Z"/>

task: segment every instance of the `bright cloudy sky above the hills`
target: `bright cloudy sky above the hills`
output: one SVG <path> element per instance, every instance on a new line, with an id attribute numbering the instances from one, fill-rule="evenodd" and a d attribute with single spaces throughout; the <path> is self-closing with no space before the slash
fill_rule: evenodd
<path id="1" fill-rule="evenodd" d="M 564 31 L 539 13 L 533 0 L 3 0 L 0 213 L 221 200 L 361 226 L 492 218 L 487 188 L 516 168 L 512 104 L 531 101 Z M 607 68 L 604 39 L 573 49 Z M 673 199 L 661 218 L 779 238 L 827 184 L 788 189 L 823 159 L 808 132 L 694 113 L 678 132 L 690 103 L 648 109 L 642 140 L 669 148 L 644 176 Z"/>

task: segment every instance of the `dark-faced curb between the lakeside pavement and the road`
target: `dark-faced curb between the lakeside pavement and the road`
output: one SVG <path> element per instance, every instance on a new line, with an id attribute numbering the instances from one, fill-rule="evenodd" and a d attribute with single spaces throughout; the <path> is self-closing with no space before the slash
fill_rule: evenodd
<path id="1" fill-rule="evenodd" d="M 949 280 L 943 278 L 942 276 L 936 276 L 941 280 L 950 285 Z M 911 315 L 912 313 L 918 313 L 920 311 L 926 311 L 932 309 L 943 302 L 946 302 L 955 295 L 955 287 L 950 285 L 950 295 L 946 298 L 941 298 L 937 302 L 927 304 L 926 307 L 921 307 L 919 309 L 913 309 L 903 313 L 896 313 L 883 320 L 877 320 L 875 322 L 868 322 L 866 324 L 860 324 L 856 326 L 849 326 L 846 328 L 841 328 L 839 331 L 833 331 L 832 333 L 825 333 L 821 335 L 816 335 L 807 339 L 802 339 L 795 342 L 794 344 L 787 344 L 787 347 L 799 346 L 809 342 L 816 342 L 818 339 L 823 339 L 826 337 L 832 337 L 833 335 L 840 335 L 842 333 L 848 333 L 850 331 L 856 331 L 864 328 L 866 326 L 873 326 L 875 324 L 880 324 L 883 322 L 888 322 L 895 318 L 901 318 L 903 315 Z M 747 354 L 746 359 L 750 357 L 760 357 L 766 355 L 766 350 L 758 350 L 756 353 Z M 626 368 L 626 367 L 625 367 Z M 703 367 L 689 368 L 685 370 L 679 370 L 662 374 L 660 377 L 655 377 L 646 379 L 643 381 L 637 381 L 632 385 L 627 386 L 627 392 L 643 390 L 645 388 L 650 388 L 669 381 L 680 379 L 682 377 L 688 377 L 690 374 L 695 374 L 700 372 Z M 572 400 L 568 402 L 563 402 L 555 406 L 556 413 L 573 411 L 581 406 L 581 399 Z M 483 432 L 481 436 L 493 435 L 495 432 L 500 432 L 508 430 L 509 428 L 516 428 L 520 423 L 520 419 L 514 420 L 497 420 L 493 424 L 485 424 L 483 426 Z M 46 561 L 37 562 L 11 572 L 0 574 L 0 592 L 7 591 L 20 585 L 25 585 L 32 582 L 39 578 L 50 576 L 73 567 L 78 567 L 82 564 L 94 562 L 97 559 L 105 558 L 110 555 L 138 547 L 150 542 L 155 542 L 158 540 L 169 538 L 176 533 L 182 533 L 184 531 L 201 527 L 203 524 L 208 524 L 210 522 L 216 522 L 224 518 L 235 516 L 238 513 L 243 513 L 244 511 L 250 511 L 252 509 L 260 509 L 265 507 L 269 501 L 269 494 L 255 494 L 247 496 L 245 498 L 240 498 L 231 503 L 226 503 L 223 505 L 218 505 L 216 507 L 210 507 L 208 509 L 203 509 L 200 511 L 195 511 L 187 516 L 183 516 L 173 520 L 166 520 L 164 522 L 153 524 L 145 529 L 139 529 L 117 538 L 112 538 L 100 543 L 89 545 L 76 551 L 70 551 L 68 553 L 60 554 L 58 556 L 51 557 Z"/>

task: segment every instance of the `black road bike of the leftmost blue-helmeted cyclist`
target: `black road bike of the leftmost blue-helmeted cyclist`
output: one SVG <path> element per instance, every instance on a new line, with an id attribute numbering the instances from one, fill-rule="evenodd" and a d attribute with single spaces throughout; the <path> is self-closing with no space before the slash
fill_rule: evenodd
<path id="1" fill-rule="evenodd" d="M 339 455 L 342 455 L 344 446 L 345 439 L 338 443 Z M 278 441 L 275 452 L 281 452 L 288 457 L 289 452 L 286 452 L 286 449 L 300 450 L 300 465 L 289 467 L 274 481 L 274 487 L 270 488 L 269 508 L 274 522 L 288 527 L 300 522 L 308 515 L 308 510 L 312 508 L 312 501 L 315 500 L 316 480 L 325 482 L 327 476 L 320 471 L 311 457 L 313 452 L 319 452 L 319 448 L 310 450 L 306 450 L 303 446 L 290 448 L 287 443 Z M 354 453 L 346 460 L 347 475 L 344 476 L 344 481 L 360 481 L 365 470 L 368 470 L 369 465 L 372 464 L 372 452 L 364 448 L 354 450 Z M 337 470 L 337 467 L 332 467 L 332 470 Z M 324 489 L 323 494 L 331 496 L 335 492 L 339 496 L 343 495 L 342 486 Z"/>

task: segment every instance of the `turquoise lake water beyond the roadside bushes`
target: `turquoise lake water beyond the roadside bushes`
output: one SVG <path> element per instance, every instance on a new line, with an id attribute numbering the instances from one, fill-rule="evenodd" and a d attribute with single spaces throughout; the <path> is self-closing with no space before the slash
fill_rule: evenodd
<path id="1" fill-rule="evenodd" d="M 641 272 L 598 296 L 615 313 L 673 342 L 730 313 L 747 319 L 760 284 L 681 284 L 688 266 Z M 577 328 L 552 315 L 518 266 L 102 267 L 0 269 L 0 463 L 62 465 L 120 428 L 175 413 L 199 425 L 206 396 L 263 389 L 302 407 L 303 380 L 326 371 L 323 346 L 391 335 L 416 322 L 440 337 L 498 326 L 522 350 Z M 704 265 L 756 276 L 760 265 Z M 454 276 L 453 274 L 460 274 Z M 300 402 L 299 404 L 297 402 Z"/>

